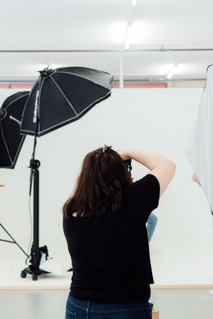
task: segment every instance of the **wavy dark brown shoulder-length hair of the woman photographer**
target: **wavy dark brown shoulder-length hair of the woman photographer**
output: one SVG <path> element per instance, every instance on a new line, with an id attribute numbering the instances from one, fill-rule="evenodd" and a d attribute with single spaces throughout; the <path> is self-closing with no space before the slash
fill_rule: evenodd
<path id="1" fill-rule="evenodd" d="M 109 147 L 89 152 L 82 164 L 76 186 L 63 206 L 65 217 L 101 218 L 109 204 L 113 211 L 120 207 L 122 189 L 132 183 L 120 155 Z"/>

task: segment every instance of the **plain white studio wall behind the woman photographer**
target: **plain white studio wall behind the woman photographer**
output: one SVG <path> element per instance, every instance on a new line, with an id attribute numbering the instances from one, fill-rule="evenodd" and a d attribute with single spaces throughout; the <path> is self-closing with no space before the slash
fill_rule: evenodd
<path id="1" fill-rule="evenodd" d="M 0 103 L 20 89 L 1 89 Z M 201 88 L 113 89 L 79 121 L 37 138 L 40 167 L 40 239 L 64 240 L 61 208 L 73 189 L 85 154 L 104 144 L 153 150 L 177 164 L 174 179 L 155 213 L 153 240 L 211 239 L 208 202 L 184 153 L 202 96 Z M 0 169 L 0 220 L 18 240 L 30 239 L 29 166 L 33 137 L 27 136 L 14 170 Z M 133 162 L 135 180 L 148 170 Z M 33 203 L 33 201 L 31 200 Z M 33 208 L 33 206 L 31 205 Z M 0 229 L 0 238 L 7 235 Z"/>

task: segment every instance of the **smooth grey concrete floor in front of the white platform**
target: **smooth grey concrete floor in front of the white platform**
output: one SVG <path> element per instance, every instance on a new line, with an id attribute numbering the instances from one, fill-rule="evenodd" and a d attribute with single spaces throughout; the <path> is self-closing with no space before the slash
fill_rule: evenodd
<path id="1" fill-rule="evenodd" d="M 159 319 L 212 319 L 209 289 L 152 289 Z M 64 319 L 66 290 L 0 290 L 1 319 Z M 128 319 L 128 318 L 127 318 Z"/>

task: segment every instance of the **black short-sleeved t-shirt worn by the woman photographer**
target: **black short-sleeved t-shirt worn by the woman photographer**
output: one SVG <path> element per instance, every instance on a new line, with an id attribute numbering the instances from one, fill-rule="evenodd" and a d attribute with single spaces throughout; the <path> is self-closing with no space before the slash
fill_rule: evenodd
<path id="1" fill-rule="evenodd" d="M 146 222 L 160 186 L 148 174 L 123 189 L 120 209 L 102 219 L 63 218 L 72 259 L 70 295 L 102 304 L 143 302 L 153 284 Z"/>

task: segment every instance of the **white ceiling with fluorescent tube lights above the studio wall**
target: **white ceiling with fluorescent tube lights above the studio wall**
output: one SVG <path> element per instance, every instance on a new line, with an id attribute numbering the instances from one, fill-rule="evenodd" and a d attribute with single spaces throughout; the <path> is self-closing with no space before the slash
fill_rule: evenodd
<path id="1" fill-rule="evenodd" d="M 177 65 L 170 80 L 205 79 L 212 12 L 212 0 L 2 1 L 0 81 L 35 81 L 48 65 L 99 69 L 114 80 L 123 72 L 126 81 L 165 81 Z"/>

